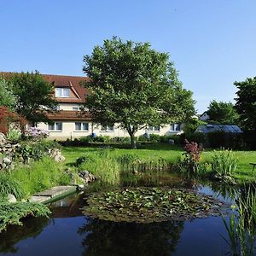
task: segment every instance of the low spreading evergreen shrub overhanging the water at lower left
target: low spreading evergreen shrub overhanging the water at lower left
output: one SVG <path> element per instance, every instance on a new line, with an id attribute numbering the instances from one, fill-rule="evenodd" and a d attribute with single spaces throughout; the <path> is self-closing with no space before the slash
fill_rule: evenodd
<path id="1" fill-rule="evenodd" d="M 9 224 L 22 225 L 20 219 L 28 216 L 48 217 L 49 208 L 38 203 L 16 202 L 8 203 L 0 201 L 0 232 L 6 230 Z"/>

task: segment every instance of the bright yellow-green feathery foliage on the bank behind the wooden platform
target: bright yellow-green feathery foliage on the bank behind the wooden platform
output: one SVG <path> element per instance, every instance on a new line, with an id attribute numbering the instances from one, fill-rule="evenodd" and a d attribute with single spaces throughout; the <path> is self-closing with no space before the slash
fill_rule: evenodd
<path id="1" fill-rule="evenodd" d="M 20 182 L 26 197 L 56 185 L 67 185 L 71 181 L 63 166 L 49 157 L 33 161 L 29 166 L 17 166 L 10 172 L 10 177 Z"/>

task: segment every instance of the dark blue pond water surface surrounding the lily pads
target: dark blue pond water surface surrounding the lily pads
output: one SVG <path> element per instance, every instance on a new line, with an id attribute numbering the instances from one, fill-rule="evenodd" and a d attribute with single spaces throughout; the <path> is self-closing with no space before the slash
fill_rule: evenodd
<path id="1" fill-rule="evenodd" d="M 177 183 L 172 186 L 177 187 Z M 182 187 L 231 202 L 229 188 L 210 188 L 194 181 L 183 182 Z M 84 195 L 71 195 L 52 204 L 50 218 L 28 218 L 22 227 L 10 226 L 0 234 L 0 255 L 215 256 L 229 252 L 219 216 L 151 224 L 116 223 L 84 216 L 82 207 Z"/>

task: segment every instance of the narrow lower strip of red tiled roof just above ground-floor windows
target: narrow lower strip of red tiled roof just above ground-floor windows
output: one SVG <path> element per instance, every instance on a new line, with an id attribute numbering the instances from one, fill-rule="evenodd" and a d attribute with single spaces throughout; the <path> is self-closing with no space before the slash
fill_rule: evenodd
<path id="1" fill-rule="evenodd" d="M 50 120 L 90 120 L 90 113 L 81 111 L 60 110 L 56 113 L 47 113 L 46 117 Z"/>

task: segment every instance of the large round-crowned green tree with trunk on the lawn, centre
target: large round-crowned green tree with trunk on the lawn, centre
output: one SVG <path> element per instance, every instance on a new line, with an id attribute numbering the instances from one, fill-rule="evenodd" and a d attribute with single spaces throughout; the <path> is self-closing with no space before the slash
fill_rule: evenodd
<path id="1" fill-rule="evenodd" d="M 105 40 L 84 55 L 84 64 L 90 78 L 85 108 L 95 122 L 128 131 L 132 148 L 145 125 L 180 122 L 195 111 L 192 92 L 183 89 L 169 55 L 148 43 Z"/>

